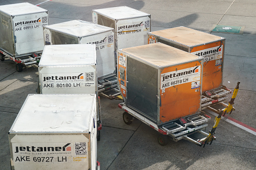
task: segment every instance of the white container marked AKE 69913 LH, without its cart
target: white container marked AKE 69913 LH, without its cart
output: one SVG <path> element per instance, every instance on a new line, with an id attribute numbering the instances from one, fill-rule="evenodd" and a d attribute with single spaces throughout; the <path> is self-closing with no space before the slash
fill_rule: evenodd
<path id="1" fill-rule="evenodd" d="M 48 11 L 29 3 L 0 6 L 0 49 L 13 57 L 41 53 Z"/>

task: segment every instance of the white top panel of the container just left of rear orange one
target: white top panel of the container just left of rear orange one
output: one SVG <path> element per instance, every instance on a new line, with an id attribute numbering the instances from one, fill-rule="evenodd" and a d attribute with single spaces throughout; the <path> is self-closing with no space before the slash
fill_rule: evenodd
<path id="1" fill-rule="evenodd" d="M 126 6 L 98 9 L 93 11 L 103 16 L 106 16 L 108 18 L 111 18 L 113 20 L 123 20 L 123 19 L 150 16 L 150 14 L 147 14 Z"/>

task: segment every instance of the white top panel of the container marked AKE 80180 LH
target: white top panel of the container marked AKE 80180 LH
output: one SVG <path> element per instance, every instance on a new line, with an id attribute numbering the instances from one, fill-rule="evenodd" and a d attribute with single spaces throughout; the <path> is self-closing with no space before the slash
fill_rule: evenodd
<path id="1" fill-rule="evenodd" d="M 96 65 L 95 44 L 48 45 L 39 66 Z"/>

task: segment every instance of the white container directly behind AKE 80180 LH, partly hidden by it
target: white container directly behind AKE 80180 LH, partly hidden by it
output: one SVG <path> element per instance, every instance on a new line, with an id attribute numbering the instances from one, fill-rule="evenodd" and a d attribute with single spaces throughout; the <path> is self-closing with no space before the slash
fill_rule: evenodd
<path id="1" fill-rule="evenodd" d="M 115 71 L 114 29 L 81 20 L 73 20 L 44 27 L 45 45 L 95 44 L 97 76 Z"/>

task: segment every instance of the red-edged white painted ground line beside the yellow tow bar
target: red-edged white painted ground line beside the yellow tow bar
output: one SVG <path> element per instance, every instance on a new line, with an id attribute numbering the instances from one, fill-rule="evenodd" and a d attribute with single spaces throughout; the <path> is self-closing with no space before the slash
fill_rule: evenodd
<path id="1" fill-rule="evenodd" d="M 210 113 L 210 114 L 212 114 L 212 115 L 214 115 L 214 116 L 216 116 L 216 117 L 218 116 L 217 113 L 214 113 L 213 111 L 211 111 L 209 109 L 206 109 L 205 111 Z M 222 116 L 221 119 L 223 119 L 223 120 L 225 120 L 225 121 L 227 121 L 227 122 L 229 122 L 229 123 L 231 123 L 231 124 L 241 128 L 241 129 L 243 129 L 243 130 L 245 130 L 245 131 L 247 131 L 247 132 L 249 132 L 251 134 L 256 135 L 256 129 L 254 129 L 253 127 L 250 127 L 250 126 L 248 126 L 248 125 L 246 125 L 246 124 L 244 124 L 244 123 L 242 123 L 242 122 L 240 122 L 238 120 L 235 120 L 235 119 L 233 119 L 231 117 L 228 117 L 227 115 L 225 115 L 224 117 Z"/>

